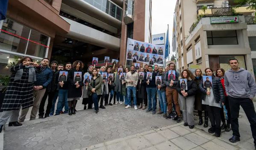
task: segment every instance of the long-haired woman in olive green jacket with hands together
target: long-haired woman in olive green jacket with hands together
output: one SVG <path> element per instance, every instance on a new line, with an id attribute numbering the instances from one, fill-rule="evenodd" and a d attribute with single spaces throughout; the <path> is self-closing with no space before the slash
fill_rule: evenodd
<path id="1" fill-rule="evenodd" d="M 98 102 L 98 95 L 101 95 L 102 93 L 102 77 L 99 73 L 97 73 L 97 70 L 93 69 L 93 74 L 91 77 L 91 82 L 89 84 L 89 95 L 93 97 L 93 103 L 94 103 L 94 110 L 97 114 L 99 112 L 99 102 Z"/>

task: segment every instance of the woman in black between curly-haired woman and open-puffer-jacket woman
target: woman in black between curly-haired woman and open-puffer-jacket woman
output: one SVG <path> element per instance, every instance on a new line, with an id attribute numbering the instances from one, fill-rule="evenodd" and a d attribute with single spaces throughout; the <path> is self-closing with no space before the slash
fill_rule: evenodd
<path id="1" fill-rule="evenodd" d="M 199 122 L 198 125 L 203 124 L 203 117 L 202 117 L 202 111 L 204 110 L 204 125 L 203 127 L 208 127 L 208 112 L 205 109 L 205 106 L 202 104 L 202 92 L 199 89 L 199 85 L 203 83 L 203 77 L 202 77 L 202 70 L 201 69 L 196 69 L 195 71 L 195 82 L 197 85 L 197 91 L 195 95 L 195 110 L 198 111 L 198 116 L 199 116 Z"/>

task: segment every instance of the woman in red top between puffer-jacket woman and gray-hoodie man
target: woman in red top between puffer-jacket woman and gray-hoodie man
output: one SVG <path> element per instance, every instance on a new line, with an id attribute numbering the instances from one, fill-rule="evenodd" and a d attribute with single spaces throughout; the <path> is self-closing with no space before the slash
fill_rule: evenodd
<path id="1" fill-rule="evenodd" d="M 228 102 L 228 97 L 227 97 L 225 86 L 224 86 L 224 74 L 225 74 L 225 70 L 223 68 L 218 68 L 215 73 L 216 77 L 220 78 L 220 82 L 222 84 L 222 87 L 224 90 L 224 95 L 225 95 L 225 103 L 222 103 L 223 107 L 221 107 L 221 109 L 220 109 L 220 117 L 221 117 L 221 122 L 222 122 L 222 125 L 220 126 L 220 128 L 221 128 L 221 130 L 225 130 L 226 132 L 229 132 L 231 130 L 231 128 L 230 128 L 231 115 L 230 115 L 230 106 L 229 106 L 229 102 Z M 224 105 L 227 110 L 227 118 L 228 118 L 227 124 L 226 124 L 225 116 L 224 116 Z"/>

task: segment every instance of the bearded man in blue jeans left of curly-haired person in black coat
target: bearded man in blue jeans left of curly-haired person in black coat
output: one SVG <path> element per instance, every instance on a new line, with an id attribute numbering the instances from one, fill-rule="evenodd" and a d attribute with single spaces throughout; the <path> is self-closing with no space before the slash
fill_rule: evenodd
<path id="1" fill-rule="evenodd" d="M 65 70 L 69 72 L 69 70 L 71 69 L 71 62 L 67 62 L 65 65 Z M 59 72 L 58 72 L 59 73 Z M 59 84 L 59 99 L 58 99 L 58 103 L 57 103 L 57 107 L 56 107 L 56 112 L 55 115 L 59 115 L 61 113 L 68 113 L 69 112 L 69 102 L 67 101 L 67 92 L 68 92 L 68 84 L 67 81 L 64 82 L 60 82 L 60 81 L 56 81 L 57 84 Z M 62 112 L 62 109 L 64 107 L 64 112 Z"/>

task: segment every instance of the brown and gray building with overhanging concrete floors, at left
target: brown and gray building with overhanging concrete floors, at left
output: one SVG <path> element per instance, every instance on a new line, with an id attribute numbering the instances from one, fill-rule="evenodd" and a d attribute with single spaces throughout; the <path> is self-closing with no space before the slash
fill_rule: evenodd
<path id="1" fill-rule="evenodd" d="M 124 65 L 128 37 L 151 42 L 151 0 L 9 0 L 0 29 L 2 74 L 22 56 Z"/>

